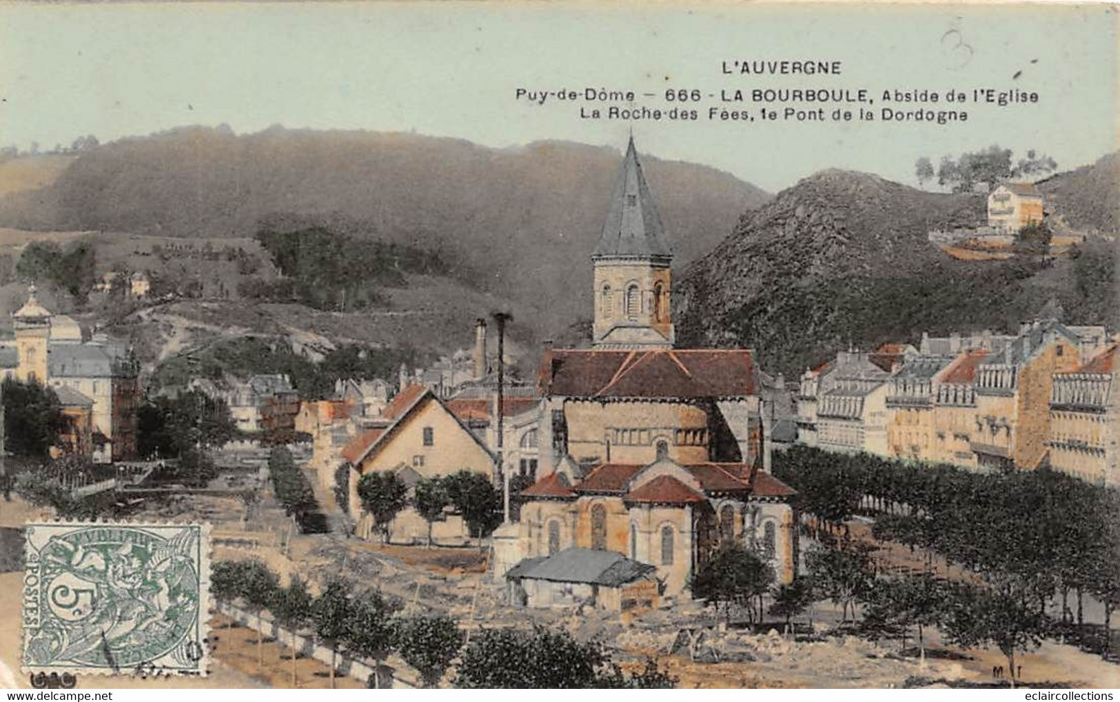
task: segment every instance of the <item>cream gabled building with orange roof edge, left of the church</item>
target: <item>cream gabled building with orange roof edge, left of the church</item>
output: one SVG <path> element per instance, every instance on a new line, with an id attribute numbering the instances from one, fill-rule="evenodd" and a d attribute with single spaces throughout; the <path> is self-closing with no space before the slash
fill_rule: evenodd
<path id="1" fill-rule="evenodd" d="M 398 393 L 377 421 L 343 448 L 342 458 L 351 467 L 348 511 L 363 539 L 373 536 L 373 520 L 362 508 L 357 484 L 368 472 L 392 472 L 410 492 L 421 478 L 459 470 L 496 481 L 494 455 L 422 385 L 409 385 Z M 432 525 L 431 534 L 440 543 L 463 543 L 468 536 L 463 520 L 450 513 Z M 428 523 L 411 507 L 405 508 L 393 520 L 389 539 L 393 543 L 422 543 L 428 539 Z"/>

